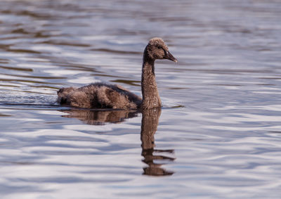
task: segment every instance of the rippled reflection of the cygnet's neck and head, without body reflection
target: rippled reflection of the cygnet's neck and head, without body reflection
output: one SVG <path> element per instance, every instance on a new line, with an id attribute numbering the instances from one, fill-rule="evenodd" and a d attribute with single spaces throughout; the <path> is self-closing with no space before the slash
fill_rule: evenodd
<path id="1" fill-rule="evenodd" d="M 161 115 L 161 108 L 153 108 L 150 110 L 143 110 L 143 118 L 141 120 L 141 147 L 143 155 L 143 162 L 148 166 L 143 168 L 143 174 L 150 176 L 166 176 L 172 175 L 174 172 L 166 171 L 162 168 L 161 163 L 164 161 L 174 161 L 175 158 L 166 156 L 166 154 L 174 153 L 174 150 L 157 150 L 155 149 L 155 132 Z M 158 155 L 155 155 L 157 153 Z M 159 163 L 157 163 L 159 161 Z"/>

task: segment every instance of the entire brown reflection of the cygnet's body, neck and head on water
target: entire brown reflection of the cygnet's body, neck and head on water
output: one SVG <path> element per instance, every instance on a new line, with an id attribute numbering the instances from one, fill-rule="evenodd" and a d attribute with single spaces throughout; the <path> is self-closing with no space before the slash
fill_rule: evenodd
<path id="1" fill-rule="evenodd" d="M 141 147 L 143 155 L 143 162 L 147 165 L 143 168 L 144 175 L 150 176 L 167 176 L 172 175 L 174 172 L 167 171 L 162 168 L 164 163 L 171 162 L 175 158 L 167 156 L 172 155 L 174 150 L 157 150 L 155 149 L 155 132 L 161 115 L 161 108 L 153 108 L 150 110 L 84 110 L 84 109 L 70 109 L 60 110 L 63 113 L 69 115 L 63 115 L 63 117 L 77 118 L 85 124 L 91 125 L 103 125 L 107 122 L 119 123 L 124 122 L 126 119 L 137 117 L 139 113 L 142 113 L 141 120 Z M 155 155 L 157 153 L 157 155 Z"/>

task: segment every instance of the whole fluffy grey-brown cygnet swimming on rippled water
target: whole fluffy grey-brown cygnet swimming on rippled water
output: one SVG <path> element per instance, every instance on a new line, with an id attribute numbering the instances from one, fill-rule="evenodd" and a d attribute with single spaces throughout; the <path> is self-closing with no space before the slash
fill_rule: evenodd
<path id="1" fill-rule="evenodd" d="M 143 99 L 120 85 L 94 83 L 80 88 L 68 87 L 58 91 L 58 103 L 81 108 L 150 109 L 161 107 L 155 78 L 155 60 L 177 62 L 160 38 L 150 39 L 143 53 L 141 88 Z"/>

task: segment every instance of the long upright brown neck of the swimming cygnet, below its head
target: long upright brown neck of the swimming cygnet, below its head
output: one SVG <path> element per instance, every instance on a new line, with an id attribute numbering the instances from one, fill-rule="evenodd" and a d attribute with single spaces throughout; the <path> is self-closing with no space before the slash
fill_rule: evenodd
<path id="1" fill-rule="evenodd" d="M 155 60 L 148 58 L 148 53 L 145 49 L 143 54 L 143 71 L 141 75 L 141 91 L 143 94 L 141 108 L 143 109 L 161 107 L 161 100 L 155 79 L 154 62 Z"/>

